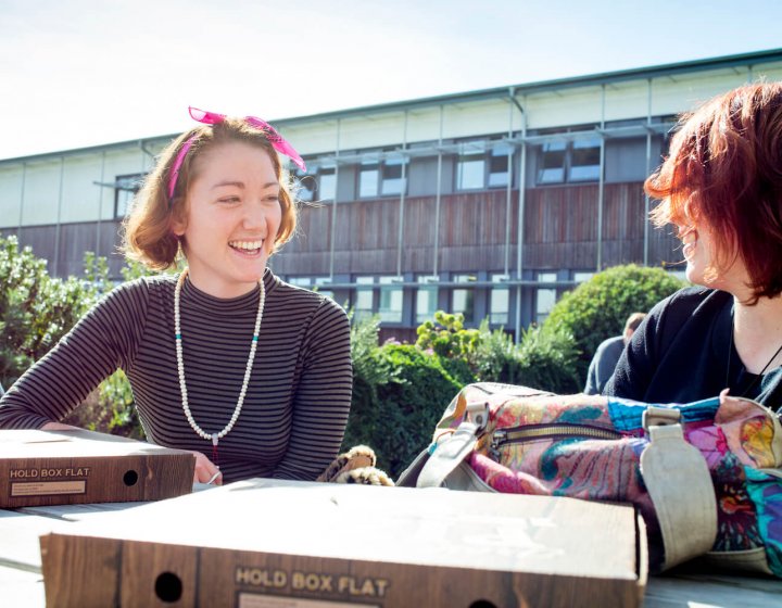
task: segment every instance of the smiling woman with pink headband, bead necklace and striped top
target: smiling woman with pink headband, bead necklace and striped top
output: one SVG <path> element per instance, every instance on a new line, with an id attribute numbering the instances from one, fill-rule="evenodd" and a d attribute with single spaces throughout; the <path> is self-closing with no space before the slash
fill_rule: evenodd
<path id="1" fill-rule="evenodd" d="M 315 480 L 337 456 L 352 389 L 332 300 L 266 267 L 297 210 L 267 123 L 204 123 L 163 152 L 125 226 L 128 257 L 179 274 L 113 290 L 0 401 L 0 428 L 55 429 L 104 378 L 130 380 L 148 439 L 195 454 L 195 481 Z"/>

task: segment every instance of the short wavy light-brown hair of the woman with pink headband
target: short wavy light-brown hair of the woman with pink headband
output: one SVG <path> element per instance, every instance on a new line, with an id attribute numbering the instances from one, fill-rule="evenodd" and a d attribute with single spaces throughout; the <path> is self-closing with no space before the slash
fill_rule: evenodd
<path id="1" fill-rule="evenodd" d="M 168 181 L 177 153 L 195 136 L 179 169 L 174 197 L 168 198 Z M 172 231 L 172 219 L 182 219 L 190 183 L 197 177 L 195 159 L 210 149 L 235 141 L 250 143 L 268 152 L 275 174 L 280 182 L 282 220 L 275 238 L 275 251 L 287 243 L 297 227 L 297 205 L 288 173 L 264 132 L 240 118 L 226 118 L 214 126 L 199 125 L 184 132 L 161 153 L 157 163 L 147 176 L 123 225 L 123 251 L 130 259 L 141 262 L 155 270 L 175 265 L 179 240 Z"/>

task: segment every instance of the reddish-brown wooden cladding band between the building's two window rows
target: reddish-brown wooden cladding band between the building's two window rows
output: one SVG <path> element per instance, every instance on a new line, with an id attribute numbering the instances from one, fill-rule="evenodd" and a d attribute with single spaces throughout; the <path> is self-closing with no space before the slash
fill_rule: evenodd
<path id="1" fill-rule="evenodd" d="M 406 198 L 401 270 L 434 270 L 436 235 L 439 271 L 503 271 L 506 259 L 514 270 L 518 198 L 517 190 L 510 192 L 508 210 L 504 189 L 442 195 L 439 231 L 436 230 L 436 198 Z M 525 267 L 596 268 L 597 200 L 596 183 L 529 189 L 525 201 Z M 644 204 L 641 182 L 605 185 L 603 267 L 643 262 Z M 398 198 L 337 205 L 305 204 L 301 207 L 297 235 L 274 256 L 272 266 L 283 275 L 324 276 L 330 274 L 331 268 L 335 274 L 395 274 L 401 208 Z M 332 223 L 333 213 L 336 223 Z M 122 266 L 122 256 L 116 253 L 118 228 L 117 221 L 104 221 L 100 226 L 99 253 L 110 255 L 113 276 L 118 275 Z M 4 232 L 15 233 L 15 230 Z M 54 226 L 24 227 L 20 240 L 22 244 L 31 245 L 36 255 L 48 258 L 53 273 L 64 276 L 83 271 L 84 252 L 94 250 L 97 236 L 93 223 L 63 224 L 59 255 L 54 251 Z M 649 229 L 651 265 L 680 259 L 678 246 L 670 228 Z M 58 268 L 54 268 L 55 259 Z"/>

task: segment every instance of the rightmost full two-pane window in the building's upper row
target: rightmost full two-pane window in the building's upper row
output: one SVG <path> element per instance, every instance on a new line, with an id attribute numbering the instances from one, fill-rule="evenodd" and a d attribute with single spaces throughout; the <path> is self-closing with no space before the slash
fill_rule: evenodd
<path id="1" fill-rule="evenodd" d="M 538 183 L 597 181 L 600 138 L 548 141 L 541 147 Z"/>

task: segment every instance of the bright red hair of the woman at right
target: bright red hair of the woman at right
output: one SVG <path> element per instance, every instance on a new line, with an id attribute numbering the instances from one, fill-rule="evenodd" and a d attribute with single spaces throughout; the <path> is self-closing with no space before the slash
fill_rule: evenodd
<path id="1" fill-rule="evenodd" d="M 751 304 L 782 293 L 782 84 L 746 85 L 684 115 L 644 189 L 663 199 L 652 212 L 657 226 L 711 229 L 707 277 L 740 257 Z"/>

